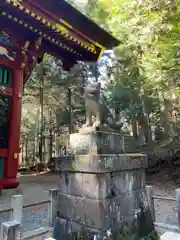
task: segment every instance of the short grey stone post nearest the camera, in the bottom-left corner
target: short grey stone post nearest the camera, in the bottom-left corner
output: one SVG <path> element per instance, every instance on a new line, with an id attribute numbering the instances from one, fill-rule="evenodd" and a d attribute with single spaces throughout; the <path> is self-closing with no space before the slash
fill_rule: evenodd
<path id="1" fill-rule="evenodd" d="M 2 240 L 20 240 L 20 223 L 16 220 L 2 223 Z"/>

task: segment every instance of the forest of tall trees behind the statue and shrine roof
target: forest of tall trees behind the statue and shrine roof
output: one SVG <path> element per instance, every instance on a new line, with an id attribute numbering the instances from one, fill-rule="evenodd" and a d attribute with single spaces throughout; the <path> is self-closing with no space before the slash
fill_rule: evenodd
<path id="1" fill-rule="evenodd" d="M 48 55 L 37 65 L 24 88 L 21 166 L 47 163 L 62 153 L 69 134 L 85 121 L 83 89 L 89 78 L 104 83 L 106 104 L 124 123 L 127 152 L 146 152 L 156 156 L 153 162 L 177 160 L 180 0 L 69 2 L 121 44 L 99 64 L 79 63 L 70 72 Z"/>

